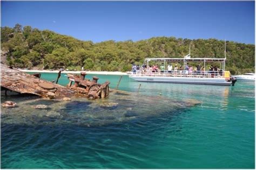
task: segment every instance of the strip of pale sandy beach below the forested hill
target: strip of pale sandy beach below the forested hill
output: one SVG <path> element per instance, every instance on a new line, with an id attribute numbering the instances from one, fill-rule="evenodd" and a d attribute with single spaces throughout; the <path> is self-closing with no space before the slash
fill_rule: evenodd
<path id="1" fill-rule="evenodd" d="M 58 73 L 59 70 L 25 70 L 20 69 L 21 72 L 26 73 Z M 127 75 L 127 73 L 124 72 L 94 72 L 94 71 L 63 71 L 62 73 L 71 73 L 71 74 L 80 74 L 81 72 L 86 72 L 86 74 L 101 74 L 101 75 Z"/>

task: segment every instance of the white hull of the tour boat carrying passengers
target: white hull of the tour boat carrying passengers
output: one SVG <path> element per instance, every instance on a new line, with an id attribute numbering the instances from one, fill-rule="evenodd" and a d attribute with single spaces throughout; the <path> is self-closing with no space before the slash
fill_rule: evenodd
<path id="1" fill-rule="evenodd" d="M 130 78 L 139 82 L 162 82 L 162 83 L 184 83 L 184 84 L 209 84 L 230 86 L 232 82 L 227 82 L 225 78 L 208 77 L 168 77 L 168 76 L 140 76 L 130 75 Z"/>

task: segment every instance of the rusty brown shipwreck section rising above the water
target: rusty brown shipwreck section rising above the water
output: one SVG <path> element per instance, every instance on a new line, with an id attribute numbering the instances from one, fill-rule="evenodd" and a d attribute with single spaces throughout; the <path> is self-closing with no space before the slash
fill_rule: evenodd
<path id="1" fill-rule="evenodd" d="M 38 74 L 30 75 L 23 73 L 17 69 L 9 68 L 2 63 L 0 75 L 2 90 L 11 90 L 21 94 L 34 94 L 51 99 L 72 96 L 83 96 L 95 99 L 100 97 L 104 98 L 109 95 L 109 82 L 100 85 L 94 80 L 81 81 L 77 80 L 77 75 L 70 75 L 71 79 L 74 77 L 74 80 L 77 81 L 75 81 L 75 85 L 73 86 L 71 81 L 68 87 L 39 79 L 40 75 Z"/>

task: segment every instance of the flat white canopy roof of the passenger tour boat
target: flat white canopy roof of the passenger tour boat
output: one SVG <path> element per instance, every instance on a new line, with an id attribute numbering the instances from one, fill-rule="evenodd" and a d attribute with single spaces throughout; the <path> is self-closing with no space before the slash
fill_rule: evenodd
<path id="1" fill-rule="evenodd" d="M 226 58 L 146 58 L 145 61 L 225 61 Z"/>

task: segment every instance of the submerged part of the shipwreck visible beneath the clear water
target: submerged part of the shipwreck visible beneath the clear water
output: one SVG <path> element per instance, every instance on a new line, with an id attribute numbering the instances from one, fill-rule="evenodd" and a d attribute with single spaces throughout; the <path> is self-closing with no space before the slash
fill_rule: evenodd
<path id="1" fill-rule="evenodd" d="M 114 89 L 104 100 L 87 100 L 83 97 L 72 98 L 72 101 L 35 100 L 35 97 L 28 97 L 25 101 L 16 98 L 15 102 L 18 107 L 2 108 L 2 126 L 65 125 L 93 128 L 124 123 L 144 126 L 148 121 L 157 124 L 158 121 L 176 119 L 201 103 L 193 99 L 176 100 L 162 95 L 152 97 Z M 41 104 L 45 108 L 37 108 Z"/>

